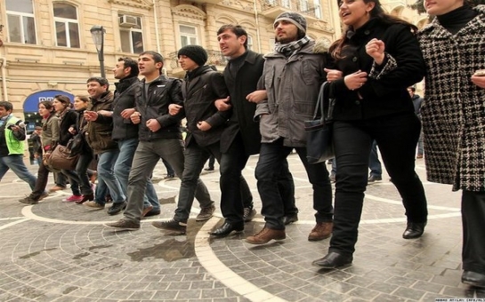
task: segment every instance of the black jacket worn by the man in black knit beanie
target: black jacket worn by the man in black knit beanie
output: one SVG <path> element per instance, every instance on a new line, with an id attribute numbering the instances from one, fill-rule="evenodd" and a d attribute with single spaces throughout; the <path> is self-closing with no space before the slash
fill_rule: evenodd
<path id="1" fill-rule="evenodd" d="M 209 146 L 221 140 L 224 125 L 230 116 L 230 110 L 218 111 L 215 99 L 228 97 L 222 74 L 208 66 L 202 66 L 188 73 L 182 83 L 183 108 L 187 118 L 189 133 L 186 146 L 195 139 L 199 146 Z M 206 121 L 211 125 L 209 131 L 198 130 L 197 123 Z"/>

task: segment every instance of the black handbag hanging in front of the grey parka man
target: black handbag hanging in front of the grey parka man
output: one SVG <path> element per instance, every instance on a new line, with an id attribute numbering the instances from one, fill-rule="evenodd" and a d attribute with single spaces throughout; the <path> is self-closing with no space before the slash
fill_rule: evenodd
<path id="1" fill-rule="evenodd" d="M 322 83 L 313 119 L 304 122 L 308 163 L 321 163 L 335 157 L 332 139 L 335 98 L 330 97 L 329 86 L 327 82 Z"/>

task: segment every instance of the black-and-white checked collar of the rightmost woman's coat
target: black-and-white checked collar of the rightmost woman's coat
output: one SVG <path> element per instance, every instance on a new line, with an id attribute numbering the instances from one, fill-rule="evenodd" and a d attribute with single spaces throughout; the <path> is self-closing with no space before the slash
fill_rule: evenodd
<path id="1" fill-rule="evenodd" d="M 461 28 L 458 33 L 460 36 L 471 33 L 476 33 L 478 30 L 485 28 L 485 5 L 477 5 L 473 7 L 473 10 L 479 14 L 468 24 L 465 28 Z M 430 38 L 446 38 L 453 36 L 448 30 L 443 28 L 438 18 L 434 18 L 430 24 L 425 26 L 418 32 L 418 35 L 426 35 Z"/>

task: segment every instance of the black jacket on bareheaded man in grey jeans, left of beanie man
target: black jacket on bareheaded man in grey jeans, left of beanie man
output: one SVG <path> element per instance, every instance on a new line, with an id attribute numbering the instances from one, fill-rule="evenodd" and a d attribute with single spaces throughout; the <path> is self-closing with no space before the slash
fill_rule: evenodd
<path id="1" fill-rule="evenodd" d="M 168 105 L 183 106 L 181 81 L 179 79 L 158 76 L 149 84 L 148 94 L 145 95 L 145 79 L 135 87 L 136 109 L 141 114 L 141 123 L 138 128 L 140 140 L 151 139 L 182 139 L 180 130 L 183 113 L 168 114 Z M 156 119 L 162 126 L 158 131 L 152 132 L 146 126 L 150 119 Z"/>

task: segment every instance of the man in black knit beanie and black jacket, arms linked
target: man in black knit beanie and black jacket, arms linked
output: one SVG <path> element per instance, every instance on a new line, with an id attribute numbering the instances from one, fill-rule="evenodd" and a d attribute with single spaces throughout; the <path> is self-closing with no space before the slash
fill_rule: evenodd
<path id="1" fill-rule="evenodd" d="M 183 107 L 172 104 L 169 112 L 171 115 L 182 112 L 187 118 L 185 169 L 174 219 L 156 221 L 152 225 L 185 234 L 200 172 L 211 155 L 221 160 L 219 142 L 230 112 L 218 111 L 214 106 L 215 99 L 226 98 L 229 92 L 222 74 L 205 65 L 206 50 L 198 45 L 187 45 L 181 48 L 178 56 L 182 69 L 187 71 L 182 82 Z M 214 207 L 203 211 L 212 216 Z"/>

